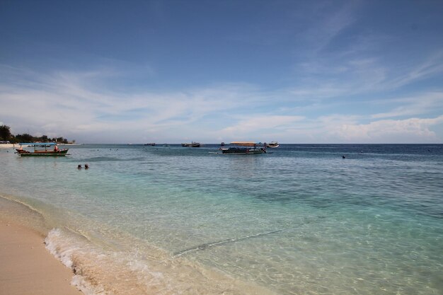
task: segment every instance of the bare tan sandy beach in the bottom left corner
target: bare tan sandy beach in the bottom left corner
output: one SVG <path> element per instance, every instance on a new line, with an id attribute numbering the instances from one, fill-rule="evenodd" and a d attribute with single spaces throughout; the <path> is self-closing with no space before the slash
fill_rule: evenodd
<path id="1" fill-rule="evenodd" d="M 45 248 L 40 233 L 0 219 L 1 295 L 82 295 L 70 284 L 73 275 Z"/>

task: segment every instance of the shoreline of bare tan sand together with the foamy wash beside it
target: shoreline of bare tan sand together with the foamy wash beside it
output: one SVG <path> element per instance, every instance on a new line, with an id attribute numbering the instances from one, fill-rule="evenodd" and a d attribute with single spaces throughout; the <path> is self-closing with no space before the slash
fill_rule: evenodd
<path id="1" fill-rule="evenodd" d="M 74 256 L 71 250 L 76 252 Z M 220 290 L 229 290 L 232 295 L 276 294 L 184 258 L 172 261 L 156 256 L 163 254 L 159 249 L 150 250 L 154 252 L 137 249 L 119 256 L 120 251 L 93 245 L 81 233 L 55 226 L 32 205 L 0 192 L 0 294 L 84 295 L 110 291 L 122 295 L 210 295 L 221 294 Z"/>

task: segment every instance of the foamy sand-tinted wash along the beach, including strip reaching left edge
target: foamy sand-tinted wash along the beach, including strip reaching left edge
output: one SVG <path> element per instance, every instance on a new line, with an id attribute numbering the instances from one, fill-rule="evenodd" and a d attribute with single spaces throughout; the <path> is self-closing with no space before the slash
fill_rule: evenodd
<path id="1" fill-rule="evenodd" d="M 118 236 L 113 241 L 100 231 L 78 229 L 84 220 L 77 220 L 73 228 L 60 226 L 49 230 L 52 217 L 45 216 L 45 210 L 40 212 L 25 201 L 3 194 L 0 205 L 2 212 L 9 211 L 2 214 L 4 219 L 13 218 L 33 228 L 40 224 L 47 250 L 72 270 L 71 284 L 86 295 L 275 295 L 254 282 L 229 277 L 185 257 L 173 257 L 130 235 L 111 231 L 111 235 Z"/>

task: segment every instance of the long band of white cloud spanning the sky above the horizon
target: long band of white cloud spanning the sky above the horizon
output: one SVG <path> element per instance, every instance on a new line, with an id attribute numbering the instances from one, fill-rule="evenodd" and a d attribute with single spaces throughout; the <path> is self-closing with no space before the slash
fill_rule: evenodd
<path id="1" fill-rule="evenodd" d="M 371 60 L 354 61 L 372 64 Z M 0 71 L 6 71 L 0 68 Z M 392 108 L 374 115 L 328 115 L 340 109 L 347 86 L 299 88 L 288 96 L 244 83 L 183 91 L 111 93 L 95 86 L 112 71 L 33 73 L 14 69 L 15 83 L 0 83 L 0 117 L 11 132 L 63 136 L 86 142 L 277 140 L 281 142 L 441 142 L 443 93 L 374 100 Z M 11 71 L 9 71 L 11 73 Z M 1 74 L 1 72 L 0 72 Z M 340 88 L 343 87 L 343 88 Z M 316 98 L 312 104 L 306 98 Z M 343 111 L 350 112 L 349 108 Z M 323 112 L 323 113 L 322 113 Z M 309 115 L 308 115 L 309 114 Z M 323 115 L 324 114 L 324 115 Z M 368 119 L 408 117 L 404 120 Z M 412 118 L 416 117 L 416 118 Z M 364 123 L 362 123 L 364 122 Z"/>

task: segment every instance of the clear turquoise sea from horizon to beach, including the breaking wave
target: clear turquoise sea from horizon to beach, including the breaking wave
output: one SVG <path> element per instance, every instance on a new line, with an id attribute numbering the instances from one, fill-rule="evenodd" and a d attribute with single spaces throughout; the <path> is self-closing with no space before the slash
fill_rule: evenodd
<path id="1" fill-rule="evenodd" d="M 85 294 L 443 294 L 441 144 L 65 147 L 0 149 L 0 212 Z"/>

